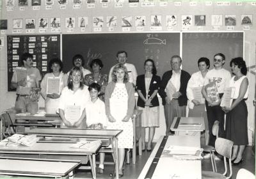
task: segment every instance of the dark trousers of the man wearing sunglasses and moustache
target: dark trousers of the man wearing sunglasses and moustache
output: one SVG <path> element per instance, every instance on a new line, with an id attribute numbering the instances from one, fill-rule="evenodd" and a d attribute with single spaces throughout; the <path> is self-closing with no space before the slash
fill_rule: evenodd
<path id="1" fill-rule="evenodd" d="M 220 94 L 220 98 L 223 94 Z M 209 145 L 215 146 L 216 136 L 212 134 L 212 126 L 214 121 L 219 121 L 219 137 L 225 137 L 224 132 L 224 111 L 222 111 L 220 105 L 209 106 L 208 102 L 205 100 L 205 106 L 207 111 L 208 125 L 209 125 Z"/>

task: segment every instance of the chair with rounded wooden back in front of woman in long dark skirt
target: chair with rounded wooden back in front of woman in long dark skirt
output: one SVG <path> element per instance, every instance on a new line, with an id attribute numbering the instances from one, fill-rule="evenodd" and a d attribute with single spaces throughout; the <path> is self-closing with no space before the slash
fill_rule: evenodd
<path id="1" fill-rule="evenodd" d="M 213 171 L 202 171 L 202 179 L 209 179 L 209 178 L 216 178 L 216 179 L 221 179 L 221 178 L 230 178 L 232 176 L 232 164 L 231 164 L 231 154 L 232 154 L 232 146 L 233 142 L 228 140 L 228 139 L 223 139 L 221 137 L 217 138 L 215 141 L 215 150 L 218 152 L 220 155 L 224 157 L 224 166 L 225 166 L 225 171 L 223 174 L 221 173 L 215 173 Z M 227 175 L 227 161 L 228 159 L 228 166 L 229 166 L 229 175 Z"/>

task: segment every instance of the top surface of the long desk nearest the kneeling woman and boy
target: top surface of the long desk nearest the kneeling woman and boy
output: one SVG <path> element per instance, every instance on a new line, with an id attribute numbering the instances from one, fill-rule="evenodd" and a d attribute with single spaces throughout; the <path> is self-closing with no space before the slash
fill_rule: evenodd
<path id="1" fill-rule="evenodd" d="M 91 137 L 91 138 L 110 138 L 116 137 L 122 130 L 106 129 L 80 129 L 80 128 L 33 128 L 28 134 L 37 136 L 57 136 L 57 137 Z"/>

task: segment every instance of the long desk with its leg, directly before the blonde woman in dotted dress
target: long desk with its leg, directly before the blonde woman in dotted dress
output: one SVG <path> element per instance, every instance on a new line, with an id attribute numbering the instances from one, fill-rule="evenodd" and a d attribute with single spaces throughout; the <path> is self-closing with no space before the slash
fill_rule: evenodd
<path id="1" fill-rule="evenodd" d="M 106 130 L 106 129 L 77 129 L 77 128 L 33 128 L 28 134 L 36 134 L 42 137 L 77 137 L 77 138 L 93 138 L 93 139 L 109 139 L 113 149 L 116 167 L 116 178 L 118 178 L 118 142 L 117 136 L 122 130 Z M 94 158 L 94 157 L 93 157 Z M 95 158 L 93 159 L 95 160 Z M 95 167 L 95 166 L 94 166 Z"/>

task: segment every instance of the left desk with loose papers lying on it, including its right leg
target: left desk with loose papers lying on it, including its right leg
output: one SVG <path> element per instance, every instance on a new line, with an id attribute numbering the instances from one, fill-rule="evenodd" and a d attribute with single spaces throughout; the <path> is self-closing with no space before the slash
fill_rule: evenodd
<path id="1" fill-rule="evenodd" d="M 93 178 L 96 178 L 96 164 L 92 159 L 100 148 L 100 143 L 92 149 L 71 148 L 70 143 L 35 143 L 33 146 L 0 146 L 0 153 L 45 154 L 45 155 L 88 155 Z"/>

